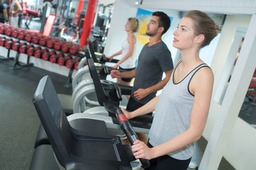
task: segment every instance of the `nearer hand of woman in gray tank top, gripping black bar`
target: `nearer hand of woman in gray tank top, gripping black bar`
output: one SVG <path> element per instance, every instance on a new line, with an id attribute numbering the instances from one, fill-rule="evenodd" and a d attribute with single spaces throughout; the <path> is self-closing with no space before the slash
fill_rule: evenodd
<path id="1" fill-rule="evenodd" d="M 147 159 L 150 160 L 153 157 L 154 147 L 149 148 L 146 144 L 140 140 L 137 140 L 132 145 L 132 152 L 136 159 Z"/>

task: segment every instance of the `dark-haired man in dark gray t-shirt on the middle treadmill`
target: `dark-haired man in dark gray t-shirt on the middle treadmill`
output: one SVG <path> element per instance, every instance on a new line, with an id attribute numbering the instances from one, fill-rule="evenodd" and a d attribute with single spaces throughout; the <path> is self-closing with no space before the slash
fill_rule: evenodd
<path id="1" fill-rule="evenodd" d="M 112 70 L 112 78 L 134 78 L 134 86 L 131 97 L 127 104 L 127 111 L 135 111 L 144 106 L 156 96 L 156 92 L 163 89 L 171 77 L 174 64 L 171 59 L 171 52 L 161 40 L 171 24 L 166 13 L 156 11 L 147 24 L 146 35 L 149 35 L 149 42 L 144 45 L 139 54 L 138 67 L 130 72 L 119 72 Z M 166 74 L 162 78 L 163 72 Z M 146 135 L 137 133 L 139 140 L 147 142 Z M 124 142 L 124 144 L 127 144 Z"/>

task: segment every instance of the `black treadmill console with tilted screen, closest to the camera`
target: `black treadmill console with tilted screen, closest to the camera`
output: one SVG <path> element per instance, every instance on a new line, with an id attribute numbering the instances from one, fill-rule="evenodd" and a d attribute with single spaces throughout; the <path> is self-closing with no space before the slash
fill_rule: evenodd
<path id="1" fill-rule="evenodd" d="M 38 84 L 33 104 L 49 137 L 59 166 L 65 169 L 132 169 L 129 145 L 108 135 L 103 121 L 68 121 L 48 76 Z"/>

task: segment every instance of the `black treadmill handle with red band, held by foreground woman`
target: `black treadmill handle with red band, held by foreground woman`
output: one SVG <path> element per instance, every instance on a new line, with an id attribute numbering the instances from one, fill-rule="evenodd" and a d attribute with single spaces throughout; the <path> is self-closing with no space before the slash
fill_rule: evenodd
<path id="1" fill-rule="evenodd" d="M 124 131 L 125 135 L 127 135 L 127 138 L 131 143 L 131 145 L 133 145 L 133 143 L 136 140 L 139 140 L 139 138 L 137 137 L 136 133 L 134 132 L 134 129 L 132 128 L 132 125 L 127 120 L 127 117 L 124 115 L 121 108 L 117 108 L 116 112 L 117 112 L 117 120 L 119 122 L 121 129 Z M 139 159 L 139 161 L 142 163 L 142 166 L 144 168 L 148 168 L 150 166 L 149 160 L 141 158 Z"/>

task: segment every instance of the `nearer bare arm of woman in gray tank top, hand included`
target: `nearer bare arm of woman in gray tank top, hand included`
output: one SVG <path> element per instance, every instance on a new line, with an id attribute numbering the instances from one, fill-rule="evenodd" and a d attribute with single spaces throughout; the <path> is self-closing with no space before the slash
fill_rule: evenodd
<path id="1" fill-rule="evenodd" d="M 200 139 L 206 126 L 210 98 L 213 91 L 213 73 L 207 67 L 198 70 L 190 84 L 190 91 L 194 94 L 191 121 L 188 130 L 174 137 L 168 142 L 149 148 L 143 142 L 134 142 L 132 151 L 136 159 L 153 159 L 186 147 Z"/>

